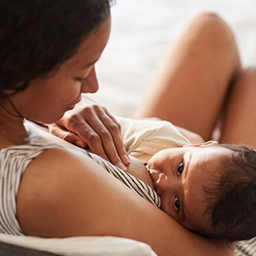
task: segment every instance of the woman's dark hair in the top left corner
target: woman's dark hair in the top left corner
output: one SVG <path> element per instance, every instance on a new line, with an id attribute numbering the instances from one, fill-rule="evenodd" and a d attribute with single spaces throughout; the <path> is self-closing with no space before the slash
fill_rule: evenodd
<path id="1" fill-rule="evenodd" d="M 0 99 L 72 57 L 110 0 L 0 0 Z"/>

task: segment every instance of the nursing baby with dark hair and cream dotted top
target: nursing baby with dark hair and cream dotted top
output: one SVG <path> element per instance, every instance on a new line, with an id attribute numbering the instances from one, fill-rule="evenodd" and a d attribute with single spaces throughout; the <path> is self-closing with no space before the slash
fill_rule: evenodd
<path id="1" fill-rule="evenodd" d="M 192 145 L 169 122 L 117 119 L 126 150 L 146 164 L 131 165 L 127 172 L 154 188 L 161 210 L 204 236 L 229 241 L 256 236 L 253 148 Z"/>

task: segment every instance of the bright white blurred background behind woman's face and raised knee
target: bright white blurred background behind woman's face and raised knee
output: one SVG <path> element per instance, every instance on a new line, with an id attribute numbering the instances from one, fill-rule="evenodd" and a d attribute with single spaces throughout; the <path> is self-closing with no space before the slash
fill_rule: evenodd
<path id="1" fill-rule="evenodd" d="M 117 0 L 112 32 L 96 64 L 100 89 L 90 97 L 108 110 L 131 116 L 172 41 L 189 16 L 214 12 L 235 33 L 244 67 L 256 64 L 255 0 Z"/>

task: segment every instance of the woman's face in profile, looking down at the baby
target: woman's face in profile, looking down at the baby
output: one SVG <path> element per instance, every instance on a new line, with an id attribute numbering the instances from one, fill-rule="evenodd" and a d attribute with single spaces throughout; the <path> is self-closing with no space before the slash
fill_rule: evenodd
<path id="1" fill-rule="evenodd" d="M 64 61 L 56 72 L 33 80 L 26 90 L 11 96 L 9 101 L 15 111 L 26 119 L 49 124 L 74 108 L 81 93 L 96 92 L 95 63 L 108 43 L 110 24 L 108 18 L 96 27 L 80 44 L 77 53 Z"/>

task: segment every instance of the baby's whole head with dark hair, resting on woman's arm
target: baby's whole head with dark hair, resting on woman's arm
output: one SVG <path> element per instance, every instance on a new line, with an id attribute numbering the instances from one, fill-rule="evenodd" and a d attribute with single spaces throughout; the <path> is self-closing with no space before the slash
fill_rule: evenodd
<path id="1" fill-rule="evenodd" d="M 161 209 L 189 230 L 238 241 L 256 236 L 256 152 L 207 143 L 148 160 Z"/>

